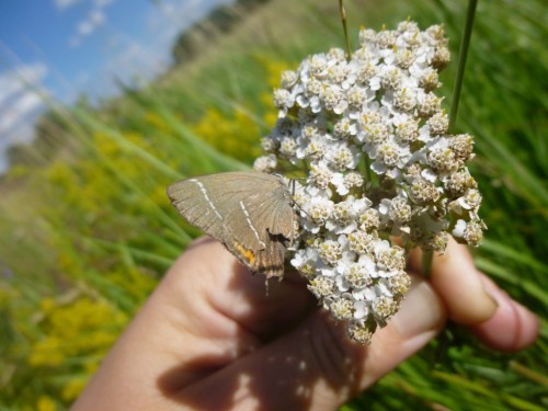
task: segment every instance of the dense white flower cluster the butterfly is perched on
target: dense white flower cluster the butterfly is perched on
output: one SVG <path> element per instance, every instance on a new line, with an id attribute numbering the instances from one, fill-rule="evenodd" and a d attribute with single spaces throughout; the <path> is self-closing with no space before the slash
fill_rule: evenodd
<path id="1" fill-rule="evenodd" d="M 466 168 L 472 137 L 448 135 L 433 92 L 449 60 L 442 26 L 362 30 L 359 45 L 350 59 L 335 48 L 283 73 L 279 118 L 255 169 L 305 170 L 292 264 L 350 336 L 367 343 L 410 287 L 409 250 L 443 252 L 449 235 L 477 246 L 484 226 Z"/>

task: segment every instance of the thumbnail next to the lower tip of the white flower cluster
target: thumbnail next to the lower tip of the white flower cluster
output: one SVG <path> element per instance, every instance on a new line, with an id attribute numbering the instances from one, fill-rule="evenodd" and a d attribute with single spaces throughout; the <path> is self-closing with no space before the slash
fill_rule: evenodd
<path id="1" fill-rule="evenodd" d="M 404 339 L 436 331 L 444 321 L 445 308 L 425 282 L 411 289 L 393 318 L 396 329 Z"/>

